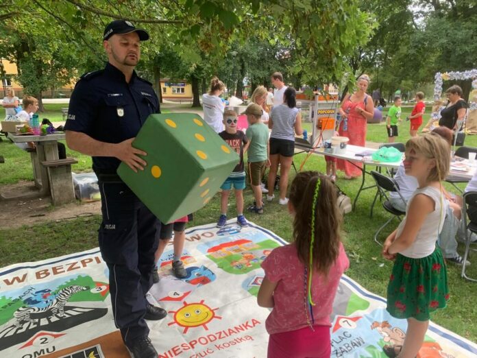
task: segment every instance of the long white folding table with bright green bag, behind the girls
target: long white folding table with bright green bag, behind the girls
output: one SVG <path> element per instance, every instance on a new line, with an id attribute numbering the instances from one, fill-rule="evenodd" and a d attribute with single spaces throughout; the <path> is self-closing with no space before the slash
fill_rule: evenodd
<path id="1" fill-rule="evenodd" d="M 347 145 L 344 153 L 339 153 L 339 154 L 327 153 L 327 152 L 324 152 L 323 147 L 313 149 L 313 147 L 309 145 L 309 142 L 304 141 L 301 138 L 295 138 L 295 150 L 301 151 L 298 153 L 312 152 L 313 154 L 317 154 L 321 156 L 332 156 L 334 158 L 347 160 L 352 165 L 356 165 L 356 163 L 361 163 L 363 165 L 363 167 L 359 167 L 358 165 L 356 165 L 356 167 L 358 167 L 361 171 L 363 171 L 363 175 L 361 176 L 361 184 L 360 184 L 358 193 L 356 193 L 356 198 L 354 198 L 353 209 L 356 208 L 356 202 L 358 201 L 359 195 L 362 191 L 376 188 L 376 184 L 372 184 L 372 185 L 369 185 L 368 187 L 365 187 L 366 175 L 368 174 L 369 176 L 371 176 L 371 173 L 367 171 L 366 169 L 367 166 L 386 168 L 389 170 L 389 169 L 399 168 L 402 163 L 402 159 L 398 160 L 397 162 L 391 162 L 391 163 L 377 162 L 371 158 L 371 155 L 374 152 L 376 152 L 377 149 L 368 148 L 368 147 L 360 147 L 358 145 Z M 295 154 L 298 154 L 298 153 L 295 152 Z M 363 156 L 363 154 L 367 154 L 367 155 Z M 457 167 L 454 163 L 457 163 L 457 162 L 461 163 L 460 167 L 464 167 L 461 169 L 465 169 L 465 170 L 456 170 Z M 463 160 L 453 159 L 450 169 L 451 170 L 450 170 L 449 177 L 452 177 L 453 179 L 458 178 L 463 181 L 469 181 L 472 179 L 472 176 L 474 176 L 474 173 L 476 172 L 476 169 L 477 169 L 477 165 L 476 163 L 469 164 L 469 160 L 467 159 L 463 159 Z"/>

